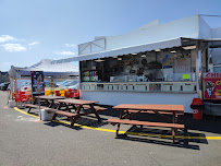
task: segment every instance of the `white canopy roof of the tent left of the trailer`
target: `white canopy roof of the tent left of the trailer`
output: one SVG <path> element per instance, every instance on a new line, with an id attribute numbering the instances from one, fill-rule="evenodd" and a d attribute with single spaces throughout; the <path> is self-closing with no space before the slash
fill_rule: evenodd
<path id="1" fill-rule="evenodd" d="M 79 70 L 71 63 L 51 64 L 51 59 L 44 59 L 37 64 L 22 69 L 21 75 L 30 75 L 30 71 L 44 71 L 44 75 L 78 75 Z"/>

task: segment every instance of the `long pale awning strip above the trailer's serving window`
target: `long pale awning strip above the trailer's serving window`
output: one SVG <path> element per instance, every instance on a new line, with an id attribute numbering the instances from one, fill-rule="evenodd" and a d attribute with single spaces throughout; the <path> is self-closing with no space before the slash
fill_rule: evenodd
<path id="1" fill-rule="evenodd" d="M 128 55 L 128 54 L 135 54 L 135 52 L 138 54 L 142 51 L 151 51 L 156 49 L 165 49 L 165 48 L 173 48 L 173 47 L 180 47 L 180 46 L 182 46 L 182 38 L 175 38 L 175 39 L 163 40 L 159 43 L 120 48 L 120 49 L 110 50 L 110 51 L 101 51 L 101 52 L 89 54 L 89 55 L 78 56 L 78 57 L 73 57 L 67 59 L 53 60 L 51 61 L 51 64 L 108 58 L 108 57 L 122 56 L 122 55 Z"/>

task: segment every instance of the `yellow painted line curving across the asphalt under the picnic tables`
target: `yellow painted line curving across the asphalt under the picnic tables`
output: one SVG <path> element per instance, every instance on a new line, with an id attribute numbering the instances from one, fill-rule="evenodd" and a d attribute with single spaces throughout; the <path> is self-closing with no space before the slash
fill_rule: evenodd
<path id="1" fill-rule="evenodd" d="M 32 115 L 28 114 L 24 110 L 19 109 L 17 107 L 14 107 L 15 110 L 38 118 L 38 116 L 36 115 Z M 54 122 L 59 122 L 59 123 L 63 123 L 63 124 L 71 124 L 71 122 L 67 121 L 63 121 L 63 120 L 53 120 Z M 74 123 L 75 127 L 81 127 L 84 129 L 90 129 L 90 130 L 98 130 L 98 131 L 106 131 L 106 132 L 115 132 L 115 130 L 111 130 L 111 129 L 102 129 L 102 128 L 95 128 L 95 127 L 87 127 L 87 126 L 82 126 L 82 124 L 77 124 Z M 168 138 L 172 138 L 172 135 L 163 135 L 163 134 L 149 134 L 149 133 L 138 133 L 138 132 L 126 132 L 126 131 L 119 131 L 119 133 L 126 133 L 126 134 L 133 134 L 133 135 L 142 135 L 142 137 L 152 137 L 152 138 L 162 138 L 162 139 L 168 139 Z M 182 135 L 176 135 L 176 139 L 188 139 L 188 140 L 221 140 L 221 137 L 182 137 Z"/>

